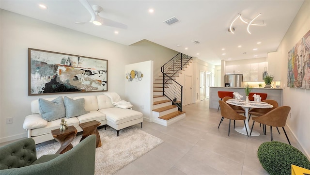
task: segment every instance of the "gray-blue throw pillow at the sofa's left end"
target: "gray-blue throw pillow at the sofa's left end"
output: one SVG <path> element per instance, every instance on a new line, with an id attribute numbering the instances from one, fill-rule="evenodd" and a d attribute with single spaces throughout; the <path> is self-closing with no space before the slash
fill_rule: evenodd
<path id="1" fill-rule="evenodd" d="M 66 116 L 62 96 L 52 101 L 39 98 L 39 110 L 42 118 L 49 122 Z"/>

